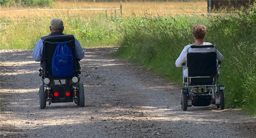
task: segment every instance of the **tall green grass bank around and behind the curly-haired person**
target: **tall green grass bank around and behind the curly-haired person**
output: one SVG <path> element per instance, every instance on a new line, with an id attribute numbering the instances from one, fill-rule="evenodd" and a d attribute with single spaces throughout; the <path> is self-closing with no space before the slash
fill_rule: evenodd
<path id="1" fill-rule="evenodd" d="M 254 11 L 234 11 L 208 17 L 134 18 L 125 23 L 116 55 L 138 62 L 172 81 L 182 82 L 175 60 L 194 39 L 195 24 L 207 26 L 205 42 L 216 45 L 225 85 L 226 107 L 238 107 L 256 115 L 256 29 Z"/>

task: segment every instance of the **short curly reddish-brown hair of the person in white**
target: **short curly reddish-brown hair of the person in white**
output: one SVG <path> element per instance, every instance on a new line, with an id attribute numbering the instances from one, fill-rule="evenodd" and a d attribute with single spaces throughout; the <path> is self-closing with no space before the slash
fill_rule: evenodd
<path id="1" fill-rule="evenodd" d="M 207 28 L 204 25 L 194 25 L 192 28 L 192 34 L 195 39 L 204 39 L 206 30 Z"/>

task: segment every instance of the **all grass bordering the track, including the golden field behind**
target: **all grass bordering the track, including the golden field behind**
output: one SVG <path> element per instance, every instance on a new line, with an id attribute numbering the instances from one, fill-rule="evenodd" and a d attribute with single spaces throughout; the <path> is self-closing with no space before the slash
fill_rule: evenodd
<path id="1" fill-rule="evenodd" d="M 53 2 L 52 9 L 120 7 L 120 2 L 99 2 L 98 7 L 84 2 L 66 3 Z M 146 2 L 141 3 L 147 6 Z M 119 10 L 116 16 L 114 10 L 107 15 L 101 10 L 1 14 L 0 49 L 33 49 L 38 39 L 49 34 L 52 17 L 58 17 L 64 20 L 64 34 L 74 34 L 84 48 L 119 45 L 115 56 L 144 65 L 182 84 L 182 69 L 175 66 L 175 60 L 184 46 L 194 42 L 192 26 L 204 24 L 207 26 L 204 41 L 216 45 L 225 57 L 221 63 L 221 84 L 225 85 L 226 107 L 242 108 L 256 115 L 256 5 L 249 10 L 230 9 L 207 15 L 206 1 L 148 3 L 151 8 L 147 10 L 138 8 L 141 5 L 136 2 L 121 3 L 122 18 Z M 190 8 L 179 11 L 174 6 L 177 3 Z M 198 8 L 201 5 L 204 8 Z"/>

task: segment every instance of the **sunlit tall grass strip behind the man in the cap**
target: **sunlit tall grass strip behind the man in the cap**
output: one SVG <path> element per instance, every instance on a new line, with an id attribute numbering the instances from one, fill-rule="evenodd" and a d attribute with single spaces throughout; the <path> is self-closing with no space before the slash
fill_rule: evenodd
<path id="1" fill-rule="evenodd" d="M 81 17 L 54 17 L 64 21 L 64 34 L 73 34 L 84 48 L 116 44 L 116 27 L 121 23 L 119 18 L 81 20 Z M 0 25 L 0 49 L 33 49 L 38 39 L 50 33 L 51 20 L 41 17 L 0 20 L 5 23 Z"/>

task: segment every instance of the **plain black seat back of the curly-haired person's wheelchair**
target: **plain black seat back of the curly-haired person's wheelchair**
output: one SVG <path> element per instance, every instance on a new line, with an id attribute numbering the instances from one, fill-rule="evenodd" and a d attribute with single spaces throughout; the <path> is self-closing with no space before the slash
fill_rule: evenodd
<path id="1" fill-rule="evenodd" d="M 192 45 L 191 48 L 215 48 L 214 45 Z M 188 48 L 189 50 L 190 48 Z M 188 52 L 187 68 L 189 84 L 209 85 L 214 83 L 217 73 L 215 52 Z"/>

